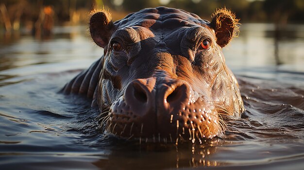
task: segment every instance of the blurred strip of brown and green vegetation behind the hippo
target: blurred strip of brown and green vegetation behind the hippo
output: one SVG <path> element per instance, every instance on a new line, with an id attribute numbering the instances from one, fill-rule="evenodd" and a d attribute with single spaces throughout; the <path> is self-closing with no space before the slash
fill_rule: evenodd
<path id="1" fill-rule="evenodd" d="M 114 20 L 142 8 L 168 6 L 204 18 L 209 18 L 216 8 L 226 7 L 236 12 L 242 23 L 304 22 L 304 0 L 1 0 L 0 30 L 84 24 L 90 10 L 103 6 L 110 8 Z"/>

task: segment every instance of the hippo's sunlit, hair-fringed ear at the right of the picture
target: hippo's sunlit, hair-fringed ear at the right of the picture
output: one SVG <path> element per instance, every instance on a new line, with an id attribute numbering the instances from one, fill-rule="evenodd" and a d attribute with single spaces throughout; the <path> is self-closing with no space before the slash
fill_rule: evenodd
<path id="1" fill-rule="evenodd" d="M 218 9 L 211 17 L 210 26 L 215 31 L 217 44 L 224 47 L 234 36 L 237 36 L 239 19 L 236 19 L 236 15 L 226 8 Z"/>

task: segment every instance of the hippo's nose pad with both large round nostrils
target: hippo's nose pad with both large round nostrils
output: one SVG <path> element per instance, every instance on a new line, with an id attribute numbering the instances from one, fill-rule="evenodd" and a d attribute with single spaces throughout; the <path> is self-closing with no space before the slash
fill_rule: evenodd
<path id="1" fill-rule="evenodd" d="M 159 112 L 179 107 L 189 101 L 190 86 L 182 80 L 157 83 L 156 78 L 136 79 L 126 88 L 124 99 L 135 115 L 144 117 L 149 111 Z M 153 116 L 153 117 L 155 117 Z"/>

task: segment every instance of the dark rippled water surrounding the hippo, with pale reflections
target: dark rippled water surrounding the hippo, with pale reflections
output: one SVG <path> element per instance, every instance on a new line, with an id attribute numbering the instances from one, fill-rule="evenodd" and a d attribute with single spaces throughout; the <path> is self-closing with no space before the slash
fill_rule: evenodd
<path id="1" fill-rule="evenodd" d="M 85 27 L 50 39 L 26 33 L 0 42 L 0 169 L 303 170 L 304 26 L 242 25 L 225 47 L 246 108 L 223 138 L 203 145 L 145 145 L 104 138 L 89 101 L 57 93 L 101 56 Z M 279 65 L 277 65 L 279 63 Z"/>

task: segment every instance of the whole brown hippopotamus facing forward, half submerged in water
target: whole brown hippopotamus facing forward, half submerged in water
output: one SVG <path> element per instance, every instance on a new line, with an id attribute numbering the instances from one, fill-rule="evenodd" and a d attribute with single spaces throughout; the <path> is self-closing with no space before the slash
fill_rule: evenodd
<path id="1" fill-rule="evenodd" d="M 112 22 L 93 11 L 89 31 L 104 54 L 63 88 L 106 115 L 106 134 L 192 142 L 223 134 L 221 115 L 240 117 L 243 101 L 222 48 L 238 32 L 226 8 L 211 22 L 181 9 L 146 8 Z"/>

